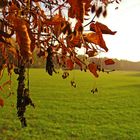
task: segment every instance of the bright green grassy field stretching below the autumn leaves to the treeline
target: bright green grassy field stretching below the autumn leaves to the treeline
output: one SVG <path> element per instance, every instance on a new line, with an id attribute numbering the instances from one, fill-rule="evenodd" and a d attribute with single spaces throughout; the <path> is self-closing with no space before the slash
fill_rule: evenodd
<path id="1" fill-rule="evenodd" d="M 27 128 L 16 116 L 15 94 L 0 93 L 0 140 L 140 140 L 140 72 L 73 71 L 62 79 L 43 69 L 30 70 L 30 90 L 36 108 L 28 107 Z M 13 78 L 16 76 L 13 76 Z M 77 88 L 70 85 L 75 80 Z M 91 93 L 92 88 L 97 93 Z"/>

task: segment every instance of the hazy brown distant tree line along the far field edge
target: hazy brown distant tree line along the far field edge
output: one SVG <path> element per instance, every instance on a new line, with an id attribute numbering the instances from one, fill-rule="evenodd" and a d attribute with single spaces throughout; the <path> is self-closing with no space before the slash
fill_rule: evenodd
<path id="1" fill-rule="evenodd" d="M 132 62 L 128 60 L 118 60 L 113 59 L 115 64 L 113 65 L 105 65 L 104 61 L 108 58 L 87 58 L 86 56 L 79 55 L 80 59 L 83 58 L 85 63 L 94 62 L 97 65 L 101 66 L 106 70 L 128 70 L 128 71 L 139 71 L 140 70 L 140 61 L 139 62 Z M 32 65 L 33 68 L 44 68 L 45 67 L 45 58 L 39 58 L 36 54 L 34 54 L 34 64 Z M 55 68 L 59 68 L 57 61 L 54 61 Z M 75 69 L 79 69 L 79 66 L 75 64 Z"/>

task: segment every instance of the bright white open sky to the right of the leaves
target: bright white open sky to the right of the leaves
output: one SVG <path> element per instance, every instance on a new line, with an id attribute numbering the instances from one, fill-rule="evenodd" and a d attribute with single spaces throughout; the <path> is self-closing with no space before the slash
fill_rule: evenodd
<path id="1" fill-rule="evenodd" d="M 119 8 L 108 7 L 108 15 L 100 21 L 116 35 L 104 35 L 109 49 L 100 56 L 119 60 L 140 61 L 140 0 L 122 0 Z"/>

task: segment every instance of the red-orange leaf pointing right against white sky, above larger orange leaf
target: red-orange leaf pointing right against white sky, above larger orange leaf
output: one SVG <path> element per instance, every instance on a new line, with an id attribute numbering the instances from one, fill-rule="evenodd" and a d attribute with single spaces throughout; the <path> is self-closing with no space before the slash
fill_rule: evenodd
<path id="1" fill-rule="evenodd" d="M 104 25 L 100 22 L 91 23 L 90 24 L 90 30 L 96 32 L 96 26 L 100 28 L 102 34 L 114 35 L 116 33 L 116 31 L 111 31 L 106 25 Z"/>

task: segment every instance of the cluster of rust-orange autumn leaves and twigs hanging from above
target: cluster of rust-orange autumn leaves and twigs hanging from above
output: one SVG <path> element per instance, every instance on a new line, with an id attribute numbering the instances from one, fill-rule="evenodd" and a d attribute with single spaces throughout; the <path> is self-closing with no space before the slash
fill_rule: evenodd
<path id="1" fill-rule="evenodd" d="M 95 19 L 106 17 L 107 6 L 119 0 L 10 0 L 2 5 L 0 20 L 0 75 L 7 68 L 33 63 L 33 51 L 46 58 L 46 71 L 52 75 L 53 60 L 63 69 L 77 64 L 98 77 L 98 67 L 77 57 L 77 48 L 84 48 L 88 57 L 108 51 L 103 34 L 114 35 Z M 94 16 L 92 20 L 90 17 Z M 85 25 L 85 21 L 86 24 Z M 85 32 L 88 28 L 88 32 Z M 17 45 L 11 43 L 16 38 Z M 107 65 L 114 62 L 105 62 Z M 65 77 L 65 76 L 64 76 Z M 2 102 L 2 101 L 0 101 Z M 2 105 L 2 103 L 1 103 Z"/>

